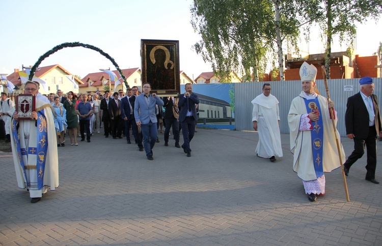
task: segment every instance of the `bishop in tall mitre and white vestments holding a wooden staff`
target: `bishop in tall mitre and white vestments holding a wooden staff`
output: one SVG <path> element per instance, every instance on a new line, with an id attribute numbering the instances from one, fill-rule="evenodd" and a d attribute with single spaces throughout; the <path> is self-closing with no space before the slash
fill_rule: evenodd
<path id="1" fill-rule="evenodd" d="M 325 194 L 324 172 L 339 168 L 336 134 L 329 110 L 334 102 L 314 91 L 317 69 L 304 62 L 300 68 L 303 91 L 292 100 L 288 114 L 293 171 L 303 180 L 308 199 Z M 334 112 L 336 113 L 336 112 Z M 336 118 L 336 117 L 335 117 Z M 335 119 L 337 124 L 337 119 Z M 341 144 L 341 157 L 345 155 Z"/>

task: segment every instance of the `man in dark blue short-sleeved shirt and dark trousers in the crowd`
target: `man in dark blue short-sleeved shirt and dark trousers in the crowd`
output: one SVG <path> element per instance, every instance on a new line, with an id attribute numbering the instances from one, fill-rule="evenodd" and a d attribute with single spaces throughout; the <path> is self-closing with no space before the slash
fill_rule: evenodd
<path id="1" fill-rule="evenodd" d="M 93 108 L 88 102 L 88 95 L 82 96 L 82 101 L 78 103 L 76 112 L 79 117 L 79 131 L 81 133 L 81 141 L 85 141 L 84 127 L 86 129 L 86 139 L 90 143 L 90 114 Z"/>

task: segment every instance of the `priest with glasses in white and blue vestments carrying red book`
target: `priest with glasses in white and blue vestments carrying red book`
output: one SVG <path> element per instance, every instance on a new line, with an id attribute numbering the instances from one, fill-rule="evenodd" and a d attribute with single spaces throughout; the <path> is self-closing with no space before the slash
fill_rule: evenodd
<path id="1" fill-rule="evenodd" d="M 24 93 L 37 95 L 38 89 L 38 84 L 27 81 Z M 19 120 L 16 108 L 11 129 L 18 187 L 27 188 L 31 202 L 36 203 L 48 188 L 54 190 L 59 186 L 56 127 L 50 103 L 36 98 L 36 110 L 30 120 Z"/>

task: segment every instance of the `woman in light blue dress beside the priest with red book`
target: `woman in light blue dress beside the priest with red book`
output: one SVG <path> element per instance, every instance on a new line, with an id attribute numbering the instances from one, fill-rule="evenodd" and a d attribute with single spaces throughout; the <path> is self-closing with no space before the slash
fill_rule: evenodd
<path id="1" fill-rule="evenodd" d="M 64 147 L 64 132 L 66 124 L 66 110 L 60 103 L 60 97 L 58 95 L 53 96 L 54 104 L 51 105 L 52 112 L 54 116 L 54 126 L 56 126 L 57 131 L 57 147 Z"/>

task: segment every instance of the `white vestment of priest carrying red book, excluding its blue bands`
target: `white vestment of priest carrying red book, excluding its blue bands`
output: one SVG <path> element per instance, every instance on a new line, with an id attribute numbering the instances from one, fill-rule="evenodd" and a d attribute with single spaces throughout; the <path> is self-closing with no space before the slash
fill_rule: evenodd
<path id="1" fill-rule="evenodd" d="M 21 149 L 26 150 L 26 154 L 19 154 L 17 151 L 17 143 L 13 135 L 11 135 L 12 154 L 15 165 L 17 184 L 19 188 L 28 188 L 31 198 L 42 197 L 42 194 L 47 192 L 47 189 L 54 190 L 59 186 L 59 167 L 58 167 L 58 152 L 57 152 L 57 138 L 56 127 L 54 127 L 54 120 L 51 111 L 50 103 L 46 103 L 36 98 L 36 112 L 44 112 L 46 121 L 40 125 L 36 124 L 36 120 L 19 120 L 18 127 L 13 127 L 13 119 L 11 123 L 12 134 L 16 132 L 19 138 Z M 43 155 L 35 152 L 38 145 L 46 143 L 38 139 L 38 131 L 46 130 L 47 135 L 47 151 L 45 156 L 45 170 L 36 169 L 37 161 L 44 158 Z M 24 163 L 26 178 L 23 169 L 20 166 L 20 159 Z M 43 177 L 43 187 L 38 189 L 37 180 L 38 176 Z"/>

